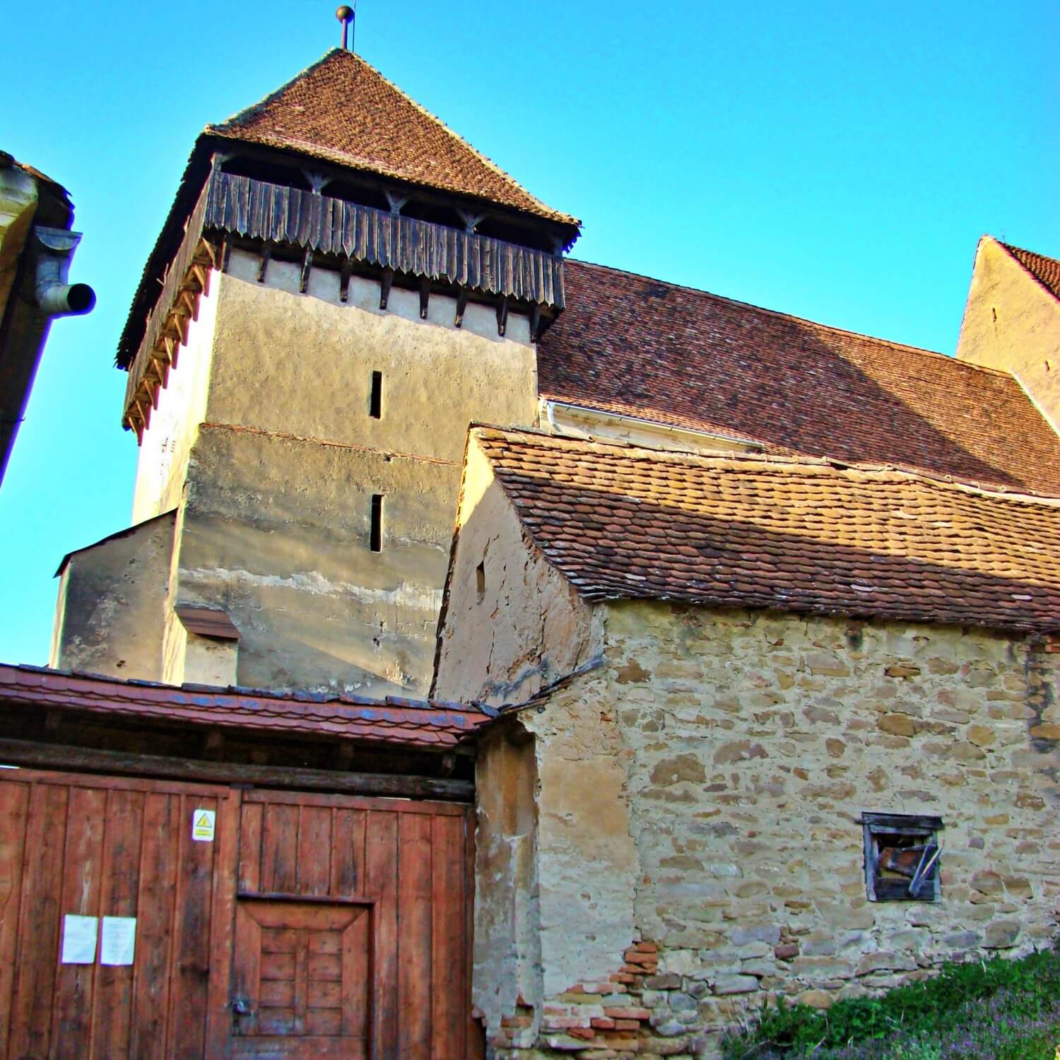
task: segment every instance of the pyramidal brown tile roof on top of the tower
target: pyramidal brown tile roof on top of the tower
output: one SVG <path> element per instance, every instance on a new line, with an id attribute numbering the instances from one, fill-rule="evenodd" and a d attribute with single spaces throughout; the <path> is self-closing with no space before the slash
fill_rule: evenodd
<path id="1" fill-rule="evenodd" d="M 341 49 L 206 131 L 578 224 L 534 198 L 359 55 Z"/>

